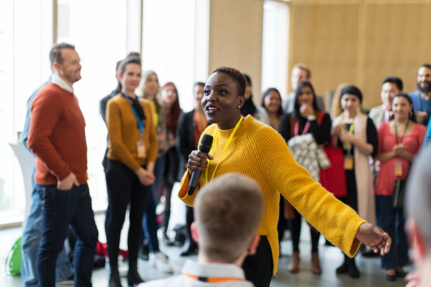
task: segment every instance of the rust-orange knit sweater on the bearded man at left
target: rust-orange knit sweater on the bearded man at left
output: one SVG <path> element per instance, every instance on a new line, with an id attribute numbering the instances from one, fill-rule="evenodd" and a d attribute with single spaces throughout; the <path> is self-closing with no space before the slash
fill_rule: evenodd
<path id="1" fill-rule="evenodd" d="M 36 154 L 35 182 L 56 185 L 73 172 L 87 183 L 85 120 L 72 93 L 53 83 L 36 95 L 31 105 L 27 146 Z"/>

